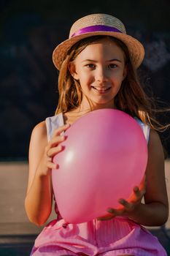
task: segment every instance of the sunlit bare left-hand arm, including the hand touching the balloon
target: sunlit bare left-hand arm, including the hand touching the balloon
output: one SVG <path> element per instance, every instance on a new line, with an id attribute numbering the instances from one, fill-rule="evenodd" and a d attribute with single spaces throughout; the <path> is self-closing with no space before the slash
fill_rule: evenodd
<path id="1" fill-rule="evenodd" d="M 51 169 L 56 167 L 52 162 L 52 157 L 62 150 L 58 144 L 65 140 L 61 136 L 61 132 L 67 128 L 68 126 L 64 126 L 56 129 L 49 143 L 47 142 L 45 121 L 36 125 L 31 134 L 25 207 L 28 218 L 36 225 L 43 225 L 51 213 Z"/>

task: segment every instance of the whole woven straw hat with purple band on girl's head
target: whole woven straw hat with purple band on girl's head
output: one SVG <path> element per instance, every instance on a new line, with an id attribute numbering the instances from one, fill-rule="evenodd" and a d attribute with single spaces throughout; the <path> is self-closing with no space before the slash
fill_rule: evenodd
<path id="1" fill-rule="evenodd" d="M 72 46 L 86 37 L 95 35 L 107 35 L 116 37 L 128 47 L 129 56 L 135 68 L 138 68 L 144 59 L 144 47 L 134 37 L 126 34 L 123 23 L 112 15 L 92 14 L 77 20 L 69 33 L 69 39 L 61 42 L 53 51 L 53 63 L 57 69 L 66 58 L 66 54 Z"/>

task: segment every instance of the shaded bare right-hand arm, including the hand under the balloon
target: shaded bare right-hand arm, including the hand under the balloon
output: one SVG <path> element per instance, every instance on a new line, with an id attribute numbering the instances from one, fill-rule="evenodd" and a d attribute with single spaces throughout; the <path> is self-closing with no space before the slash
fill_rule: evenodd
<path id="1" fill-rule="evenodd" d="M 148 143 L 148 162 L 146 170 L 146 184 L 134 190 L 134 197 L 130 201 L 120 200 L 122 205 L 118 209 L 109 208 L 109 215 L 99 219 L 111 219 L 115 216 L 125 216 L 141 225 L 163 225 L 169 216 L 169 203 L 166 192 L 164 170 L 164 154 L 158 133 L 150 131 Z M 144 203 L 142 197 L 144 195 Z"/>

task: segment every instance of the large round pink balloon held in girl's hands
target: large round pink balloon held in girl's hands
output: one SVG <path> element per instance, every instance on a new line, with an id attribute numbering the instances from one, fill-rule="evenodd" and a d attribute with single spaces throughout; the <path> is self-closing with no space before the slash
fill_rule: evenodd
<path id="1" fill-rule="evenodd" d="M 66 131 L 65 149 L 53 158 L 58 210 L 69 223 L 88 222 L 117 208 L 138 186 L 147 165 L 139 124 L 120 110 L 94 110 Z"/>

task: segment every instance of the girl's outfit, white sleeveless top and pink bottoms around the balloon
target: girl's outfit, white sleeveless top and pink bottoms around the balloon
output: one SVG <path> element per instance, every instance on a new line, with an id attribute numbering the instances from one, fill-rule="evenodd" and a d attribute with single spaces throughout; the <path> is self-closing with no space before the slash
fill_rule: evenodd
<path id="1" fill-rule="evenodd" d="M 46 119 L 47 136 L 50 140 L 53 130 L 63 125 L 59 114 Z M 149 128 L 139 121 L 146 139 Z M 58 211 L 57 207 L 55 208 Z M 74 209 L 73 209 L 74 211 Z M 59 217 L 59 214 L 58 214 Z M 125 217 L 107 221 L 93 219 L 90 222 L 64 225 L 63 219 L 54 219 L 36 238 L 31 256 L 50 255 L 135 255 L 166 256 L 158 238 L 141 225 Z"/>

